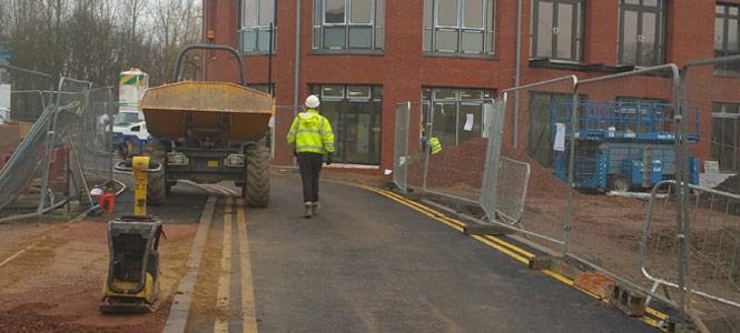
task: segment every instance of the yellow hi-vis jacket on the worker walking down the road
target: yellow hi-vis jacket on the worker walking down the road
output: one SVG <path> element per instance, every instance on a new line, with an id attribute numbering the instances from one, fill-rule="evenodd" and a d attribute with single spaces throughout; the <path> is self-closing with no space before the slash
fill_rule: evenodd
<path id="1" fill-rule="evenodd" d="M 334 152 L 329 121 L 313 109 L 298 113 L 288 132 L 288 145 L 295 152 Z"/>

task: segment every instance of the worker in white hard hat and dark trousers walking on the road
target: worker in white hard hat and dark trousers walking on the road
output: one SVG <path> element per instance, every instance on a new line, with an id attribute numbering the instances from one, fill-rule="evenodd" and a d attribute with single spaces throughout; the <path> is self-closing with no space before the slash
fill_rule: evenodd
<path id="1" fill-rule="evenodd" d="M 308 111 L 298 113 L 290 132 L 288 132 L 288 147 L 293 155 L 298 158 L 298 169 L 303 180 L 303 216 L 310 219 L 318 213 L 318 173 L 322 172 L 322 162 L 326 153 L 326 165 L 332 164 L 334 153 L 334 133 L 329 121 L 318 114 L 318 98 L 314 94 L 306 98 Z"/>

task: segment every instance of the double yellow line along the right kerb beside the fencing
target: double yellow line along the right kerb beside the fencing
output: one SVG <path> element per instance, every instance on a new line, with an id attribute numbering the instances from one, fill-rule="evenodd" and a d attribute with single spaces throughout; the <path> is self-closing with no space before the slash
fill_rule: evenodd
<path id="1" fill-rule="evenodd" d="M 460 220 L 448 218 L 447 215 L 445 215 L 444 213 L 442 213 L 440 211 L 436 211 L 434 209 L 431 209 L 431 208 L 428 208 L 426 205 L 423 205 L 423 204 L 420 204 L 417 202 L 407 200 L 407 199 L 403 198 L 402 195 L 398 195 L 398 194 L 393 193 L 391 191 L 385 191 L 385 190 L 381 190 L 381 189 L 376 189 L 376 188 L 371 188 L 371 186 L 361 185 L 361 184 L 356 184 L 356 183 L 344 182 L 344 181 L 334 181 L 334 180 L 332 180 L 332 181 L 343 183 L 343 184 L 347 184 L 347 185 L 357 186 L 357 188 L 361 188 L 361 189 L 365 189 L 367 191 L 378 193 L 378 194 L 384 195 L 384 196 L 386 196 L 386 198 L 388 198 L 393 201 L 396 201 L 396 202 L 398 202 L 398 203 L 401 203 L 405 206 L 408 206 L 408 208 L 411 208 L 411 209 L 413 209 L 413 210 L 415 210 L 415 211 L 417 211 L 417 212 L 420 212 L 420 213 L 422 213 L 426 216 L 430 216 L 430 218 L 432 218 L 436 221 L 440 221 L 440 222 L 442 222 L 442 223 L 444 223 L 444 224 L 446 224 L 446 225 L 448 225 L 448 226 L 451 226 L 451 228 L 453 228 L 453 229 L 455 229 L 460 232 L 463 232 L 463 228 L 465 226 L 465 223 L 460 221 Z M 486 244 L 486 245 L 489 245 L 493 249 L 496 249 L 497 251 L 513 258 L 514 260 L 526 264 L 526 265 L 529 265 L 529 263 L 530 263 L 529 259 L 536 256 L 536 255 L 532 254 L 531 252 L 529 252 L 524 249 L 521 249 L 516 245 L 513 245 L 509 242 L 505 242 L 505 241 L 503 241 L 503 240 L 501 240 L 500 238 L 496 238 L 496 236 L 492 236 L 492 235 L 485 235 L 485 236 L 471 235 L 471 236 L 473 239 L 475 239 L 475 240 L 477 240 L 477 241 L 480 241 L 480 242 L 482 242 L 482 243 L 484 243 L 484 244 Z M 598 295 L 574 285 L 572 280 L 570 280 L 570 279 L 568 279 L 568 278 L 565 278 L 561 274 L 558 274 L 558 273 L 555 273 L 553 271 L 550 271 L 550 270 L 543 270 L 543 273 L 545 273 L 545 274 L 547 274 L 547 275 L 550 275 L 550 276 L 556 279 L 558 281 L 561 281 L 561 282 L 563 282 L 568 285 L 571 285 L 571 286 L 573 286 L 573 287 L 591 295 L 594 299 L 600 299 L 602 302 L 609 303 L 609 300 L 601 299 Z M 662 312 L 659 312 L 659 311 L 657 311 L 654 309 L 651 309 L 651 307 L 648 307 L 645 310 L 645 312 L 648 314 L 650 314 L 652 317 L 649 317 L 649 316 L 644 315 L 644 316 L 640 317 L 640 320 L 642 322 L 644 322 L 644 323 L 647 323 L 651 326 L 654 326 L 657 329 L 660 329 L 661 331 L 667 332 L 667 330 L 663 329 L 661 326 L 661 324 L 659 323 L 659 320 L 663 321 L 663 322 L 668 320 L 667 314 L 664 314 Z"/>

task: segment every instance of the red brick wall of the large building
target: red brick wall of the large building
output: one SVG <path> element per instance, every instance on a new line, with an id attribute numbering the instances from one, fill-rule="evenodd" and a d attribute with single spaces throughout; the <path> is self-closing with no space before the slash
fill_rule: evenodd
<path id="1" fill-rule="evenodd" d="M 273 82 L 276 83 L 278 105 L 294 103 L 296 1 L 278 1 L 277 53 L 273 59 Z M 395 105 L 404 101 L 418 101 L 422 85 L 501 89 L 514 85 L 516 52 L 516 1 L 499 0 L 495 17 L 495 50 L 497 59 L 462 59 L 425 57 L 423 44 L 422 0 L 386 0 L 385 49 L 383 56 L 327 56 L 309 54 L 312 44 L 313 1 L 302 0 L 300 14 L 300 79 L 298 103 L 308 94 L 310 83 L 366 83 L 383 85 L 382 158 L 381 169 L 393 167 Z M 724 1 L 724 2 L 740 2 Z M 566 71 L 530 68 L 530 11 L 531 1 L 523 1 L 522 70 L 521 83 L 576 74 L 579 79 L 611 74 L 604 71 Z M 214 30 L 214 43 L 236 47 L 237 1 L 208 1 L 209 30 Z M 668 3 L 667 62 L 679 67 L 684 61 L 713 56 L 714 2 L 672 0 Z M 616 64 L 618 1 L 586 1 L 585 9 L 585 63 Z M 209 80 L 237 81 L 237 65 L 226 54 L 215 53 L 209 61 Z M 247 81 L 267 82 L 267 57 L 244 57 Z M 701 107 L 702 139 L 711 133 L 711 101 L 739 101 L 740 79 L 716 78 L 711 68 L 695 70 L 691 95 Z M 620 95 L 670 99 L 670 89 L 661 78 L 633 79 L 622 84 Z M 711 84 L 706 84 L 711 83 Z M 669 87 L 670 88 L 670 87 Z M 669 91 L 669 93 L 665 93 Z M 589 99 L 612 100 L 614 91 L 609 87 L 589 89 Z M 520 112 L 520 124 L 526 121 L 526 108 Z M 276 117 L 276 157 L 274 164 L 292 164 L 292 154 L 285 143 L 285 133 L 293 120 L 293 111 L 278 110 Z M 509 114 L 507 121 L 513 115 Z M 520 131 L 519 142 L 525 144 L 526 133 Z M 692 148 L 692 154 L 709 158 L 709 140 Z"/>

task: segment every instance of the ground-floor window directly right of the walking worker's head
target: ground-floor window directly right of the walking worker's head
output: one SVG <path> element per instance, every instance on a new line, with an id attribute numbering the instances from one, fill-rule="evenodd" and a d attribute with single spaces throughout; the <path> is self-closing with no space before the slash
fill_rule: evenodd
<path id="1" fill-rule="evenodd" d="M 334 131 L 334 161 L 381 164 L 382 85 L 313 84 Z"/>

